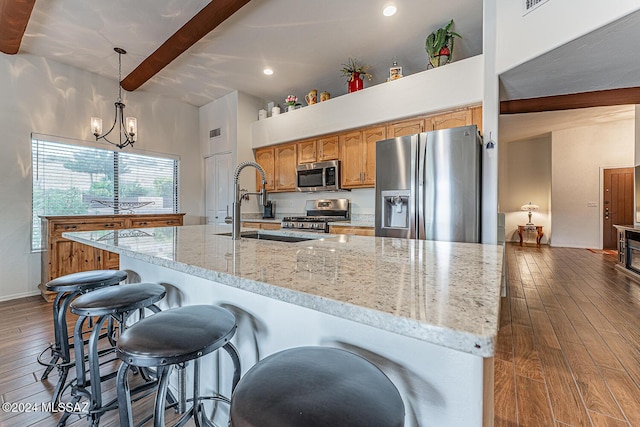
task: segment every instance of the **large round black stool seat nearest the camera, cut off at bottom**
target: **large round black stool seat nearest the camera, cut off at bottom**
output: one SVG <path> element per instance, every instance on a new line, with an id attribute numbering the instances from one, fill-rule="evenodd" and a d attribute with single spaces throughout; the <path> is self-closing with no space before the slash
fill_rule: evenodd
<path id="1" fill-rule="evenodd" d="M 391 380 L 357 354 L 284 350 L 256 363 L 231 397 L 232 427 L 403 427 Z"/>

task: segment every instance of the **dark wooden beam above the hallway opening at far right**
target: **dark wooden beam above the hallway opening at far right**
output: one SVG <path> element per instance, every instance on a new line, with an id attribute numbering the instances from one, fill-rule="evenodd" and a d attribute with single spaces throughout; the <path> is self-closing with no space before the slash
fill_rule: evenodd
<path id="1" fill-rule="evenodd" d="M 539 113 L 630 104 L 640 104 L 640 87 L 501 101 L 500 114 Z"/>

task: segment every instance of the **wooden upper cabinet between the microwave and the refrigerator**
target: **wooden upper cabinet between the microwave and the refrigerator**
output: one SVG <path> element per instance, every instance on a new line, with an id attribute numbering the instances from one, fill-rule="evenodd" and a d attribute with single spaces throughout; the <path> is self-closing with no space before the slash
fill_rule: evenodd
<path id="1" fill-rule="evenodd" d="M 376 182 L 376 142 L 386 139 L 384 126 L 341 135 L 342 188 L 374 187 Z"/>

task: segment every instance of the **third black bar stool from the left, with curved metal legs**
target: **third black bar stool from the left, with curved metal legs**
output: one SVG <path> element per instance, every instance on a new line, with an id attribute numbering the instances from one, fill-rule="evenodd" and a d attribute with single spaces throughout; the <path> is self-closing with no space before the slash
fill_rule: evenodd
<path id="1" fill-rule="evenodd" d="M 234 366 L 231 386 L 233 391 L 240 379 L 240 358 L 229 342 L 236 328 L 235 316 L 230 311 L 213 305 L 192 305 L 162 311 L 126 329 L 116 346 L 116 354 L 122 360 L 117 379 L 120 426 L 133 425 L 131 392 L 127 382 L 130 367 L 157 369 L 158 391 L 153 425 L 159 427 L 164 426 L 164 401 L 171 371 L 175 365 L 192 360 L 192 404 L 175 425 L 183 425 L 191 416 L 198 426 L 212 425 L 206 418 L 202 401 L 219 400 L 229 403 L 229 399 L 219 393 L 200 396 L 200 358 L 221 347 L 225 349 Z"/>

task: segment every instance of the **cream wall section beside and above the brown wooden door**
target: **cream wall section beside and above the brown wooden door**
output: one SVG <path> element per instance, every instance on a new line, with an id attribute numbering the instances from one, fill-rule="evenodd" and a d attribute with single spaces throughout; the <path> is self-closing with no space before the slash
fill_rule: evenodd
<path id="1" fill-rule="evenodd" d="M 633 166 L 634 146 L 634 120 L 552 133 L 552 246 L 602 248 L 602 169 Z"/>

